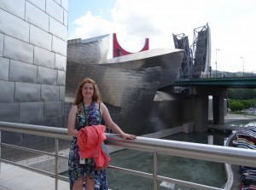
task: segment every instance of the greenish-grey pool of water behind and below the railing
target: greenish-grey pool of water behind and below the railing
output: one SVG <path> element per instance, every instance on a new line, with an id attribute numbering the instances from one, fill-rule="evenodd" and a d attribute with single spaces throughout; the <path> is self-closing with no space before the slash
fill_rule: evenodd
<path id="1" fill-rule="evenodd" d="M 224 145 L 224 138 L 228 136 L 228 134 L 216 132 L 210 134 L 179 133 L 168 136 L 166 139 L 207 144 L 208 135 L 213 135 L 213 144 L 220 146 Z M 111 165 L 153 173 L 153 153 L 125 149 L 117 153 L 112 153 L 111 158 Z M 224 164 L 196 160 L 193 158 L 167 156 L 164 154 L 158 154 L 158 175 L 171 177 L 177 180 L 201 183 L 212 187 L 223 187 L 224 183 L 227 181 Z M 109 188 L 114 190 L 153 189 L 153 181 L 151 179 L 130 176 L 113 170 L 108 170 L 108 184 Z M 160 182 L 158 189 L 189 190 L 192 188 L 180 187 L 170 183 Z"/>

